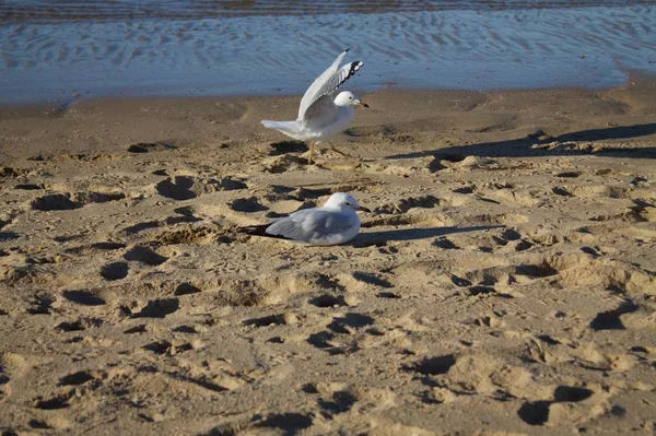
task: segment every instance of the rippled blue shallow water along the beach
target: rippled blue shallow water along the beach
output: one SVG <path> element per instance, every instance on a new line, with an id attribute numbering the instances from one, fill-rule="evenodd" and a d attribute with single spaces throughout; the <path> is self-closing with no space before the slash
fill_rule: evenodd
<path id="1" fill-rule="evenodd" d="M 612 86 L 656 72 L 656 5 L 625 3 L 5 0 L 0 103 L 302 94 L 348 46 L 355 92 Z"/>

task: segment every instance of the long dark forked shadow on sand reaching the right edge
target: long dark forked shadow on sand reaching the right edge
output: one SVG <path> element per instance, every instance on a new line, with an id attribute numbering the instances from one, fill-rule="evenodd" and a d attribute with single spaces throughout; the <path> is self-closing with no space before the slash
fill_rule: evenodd
<path id="1" fill-rule="evenodd" d="M 524 138 L 483 142 L 469 145 L 453 145 L 435 150 L 424 150 L 412 153 L 401 153 L 387 158 L 418 158 L 433 156 L 450 162 L 462 161 L 467 156 L 480 157 L 537 157 L 537 156 L 569 156 L 595 154 L 609 157 L 656 158 L 656 148 L 618 148 L 602 146 L 594 150 L 591 146 L 572 146 L 574 142 L 590 142 L 602 140 L 631 139 L 656 133 L 656 123 L 609 127 L 605 129 L 581 130 L 563 133 L 559 137 L 544 139 L 543 132 L 538 131 Z"/>

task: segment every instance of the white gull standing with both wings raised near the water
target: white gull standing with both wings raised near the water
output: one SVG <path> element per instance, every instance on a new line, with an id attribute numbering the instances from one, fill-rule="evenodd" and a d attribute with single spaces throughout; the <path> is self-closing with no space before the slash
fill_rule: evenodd
<path id="1" fill-rule="evenodd" d="M 267 129 L 276 129 L 297 141 L 309 140 L 309 158 L 307 160 L 309 164 L 312 164 L 315 141 L 326 140 L 344 130 L 355 117 L 353 106 L 368 107 L 349 91 L 341 92 L 335 97 L 336 90 L 364 64 L 355 61 L 340 68 L 339 64 L 349 50 L 350 48 L 347 48 L 339 55 L 332 64 L 307 89 L 301 99 L 298 118 L 295 121 L 262 120 L 262 125 Z M 335 148 L 333 150 L 344 154 Z"/>

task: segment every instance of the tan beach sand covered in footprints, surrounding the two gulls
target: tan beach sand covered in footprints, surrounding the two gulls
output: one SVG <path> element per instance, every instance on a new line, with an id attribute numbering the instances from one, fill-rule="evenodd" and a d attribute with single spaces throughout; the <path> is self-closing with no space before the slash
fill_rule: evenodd
<path id="1" fill-rule="evenodd" d="M 653 434 L 654 82 L 365 97 L 309 167 L 297 97 L 0 109 L 3 434 Z"/>

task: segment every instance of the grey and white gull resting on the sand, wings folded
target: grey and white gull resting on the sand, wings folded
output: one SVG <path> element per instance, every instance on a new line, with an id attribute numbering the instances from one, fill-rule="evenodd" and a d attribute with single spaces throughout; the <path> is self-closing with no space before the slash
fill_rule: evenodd
<path id="1" fill-rule="evenodd" d="M 263 225 L 239 227 L 248 235 L 267 236 L 309 245 L 339 245 L 360 232 L 355 211 L 371 212 L 344 192 L 336 192 L 320 208 L 303 209 Z"/>

